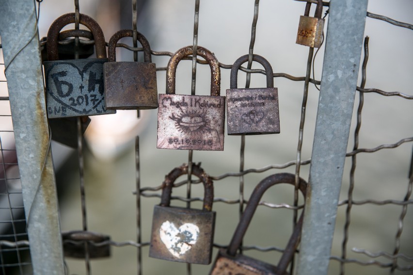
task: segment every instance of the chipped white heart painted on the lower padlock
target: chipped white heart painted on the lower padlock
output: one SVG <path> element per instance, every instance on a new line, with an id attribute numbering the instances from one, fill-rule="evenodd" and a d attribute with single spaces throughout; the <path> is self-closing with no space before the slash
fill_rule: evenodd
<path id="1" fill-rule="evenodd" d="M 166 221 L 159 229 L 160 240 L 175 257 L 180 257 L 191 250 L 198 240 L 199 228 L 191 223 L 183 224 L 178 228 L 174 223 Z"/>

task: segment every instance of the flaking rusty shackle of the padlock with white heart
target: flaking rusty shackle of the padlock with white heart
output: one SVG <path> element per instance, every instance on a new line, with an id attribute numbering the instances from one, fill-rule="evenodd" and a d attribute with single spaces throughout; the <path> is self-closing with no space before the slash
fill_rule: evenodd
<path id="1" fill-rule="evenodd" d="M 192 163 L 192 175 L 197 176 L 204 184 L 205 196 L 202 210 L 211 211 L 212 202 L 214 200 L 214 185 L 212 179 L 200 167 L 200 164 Z M 172 187 L 175 180 L 182 175 L 188 174 L 188 165 L 183 164 L 180 167 L 173 169 L 165 176 L 165 181 L 162 183 L 162 195 L 160 199 L 160 206 L 168 207 L 171 203 Z"/>

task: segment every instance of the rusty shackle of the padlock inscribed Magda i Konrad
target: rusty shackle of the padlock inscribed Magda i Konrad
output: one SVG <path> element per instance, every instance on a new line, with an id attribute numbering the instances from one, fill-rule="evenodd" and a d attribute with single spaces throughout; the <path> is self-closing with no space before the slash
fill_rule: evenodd
<path id="1" fill-rule="evenodd" d="M 180 48 L 175 52 L 168 62 L 166 69 L 166 93 L 175 94 L 175 75 L 178 62 L 184 57 L 193 54 L 192 46 Z M 203 57 L 211 68 L 211 95 L 220 95 L 221 90 L 221 69 L 215 55 L 204 47 L 198 46 L 196 55 Z"/>

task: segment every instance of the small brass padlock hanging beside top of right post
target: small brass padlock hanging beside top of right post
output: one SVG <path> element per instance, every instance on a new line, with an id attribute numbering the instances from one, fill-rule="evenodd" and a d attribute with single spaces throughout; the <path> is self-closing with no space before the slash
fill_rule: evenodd
<path id="1" fill-rule="evenodd" d="M 323 39 L 324 19 L 321 18 L 323 12 L 323 1 L 318 0 L 314 17 L 310 14 L 311 3 L 307 2 L 304 16 L 300 16 L 298 24 L 296 44 L 319 48 Z"/>

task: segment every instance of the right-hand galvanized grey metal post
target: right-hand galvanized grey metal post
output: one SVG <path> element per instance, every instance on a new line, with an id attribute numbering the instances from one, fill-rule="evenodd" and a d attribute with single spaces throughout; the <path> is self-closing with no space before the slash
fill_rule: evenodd
<path id="1" fill-rule="evenodd" d="M 331 0 L 299 275 L 327 274 L 365 29 L 367 0 Z"/>

